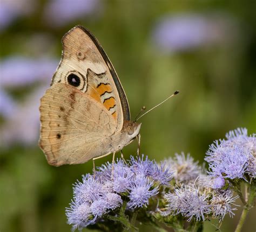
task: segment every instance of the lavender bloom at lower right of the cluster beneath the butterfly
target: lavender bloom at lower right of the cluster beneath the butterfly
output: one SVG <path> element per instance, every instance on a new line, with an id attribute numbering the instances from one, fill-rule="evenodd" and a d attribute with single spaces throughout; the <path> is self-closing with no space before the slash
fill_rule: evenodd
<path id="1" fill-rule="evenodd" d="M 149 180 L 146 177 L 136 178 L 131 187 L 129 187 L 130 201 L 128 206 L 130 208 L 137 208 L 147 206 L 149 204 L 149 199 L 158 194 L 158 187 L 153 188 L 153 181 Z"/>

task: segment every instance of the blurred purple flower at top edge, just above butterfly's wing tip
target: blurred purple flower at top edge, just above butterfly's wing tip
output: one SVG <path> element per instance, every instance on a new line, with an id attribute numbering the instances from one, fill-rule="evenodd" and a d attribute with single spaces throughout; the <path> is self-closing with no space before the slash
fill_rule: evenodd
<path id="1" fill-rule="evenodd" d="M 96 16 L 102 10 L 100 0 L 52 0 L 44 9 L 44 18 L 49 25 L 62 26 L 87 15 Z"/>

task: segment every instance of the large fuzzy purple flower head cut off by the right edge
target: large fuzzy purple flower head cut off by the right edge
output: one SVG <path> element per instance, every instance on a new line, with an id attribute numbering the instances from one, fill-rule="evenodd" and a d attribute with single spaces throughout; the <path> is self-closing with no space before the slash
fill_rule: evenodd
<path id="1" fill-rule="evenodd" d="M 255 137 L 247 136 L 247 130 L 240 128 L 230 131 L 226 137 L 227 140 L 216 140 L 206 152 L 208 173 L 230 179 L 245 179 L 245 173 L 255 177 Z"/>

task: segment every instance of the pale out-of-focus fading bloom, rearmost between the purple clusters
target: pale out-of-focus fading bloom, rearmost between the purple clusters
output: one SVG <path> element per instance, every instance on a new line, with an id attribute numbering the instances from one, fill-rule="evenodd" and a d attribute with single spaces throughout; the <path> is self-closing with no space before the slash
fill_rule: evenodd
<path id="1" fill-rule="evenodd" d="M 173 171 L 173 179 L 177 183 L 187 184 L 188 182 L 194 182 L 201 173 L 201 167 L 198 165 L 198 161 L 194 161 L 190 154 L 175 154 L 174 158 L 169 158 L 166 163 L 170 165 Z"/>

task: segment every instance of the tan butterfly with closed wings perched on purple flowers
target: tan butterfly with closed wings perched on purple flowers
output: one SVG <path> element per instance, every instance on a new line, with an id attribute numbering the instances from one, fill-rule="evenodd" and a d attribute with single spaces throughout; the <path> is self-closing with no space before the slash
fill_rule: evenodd
<path id="1" fill-rule="evenodd" d="M 114 154 L 139 136 L 141 126 L 130 121 L 124 89 L 92 33 L 75 26 L 62 45 L 62 58 L 39 107 L 39 146 L 54 166 Z"/>

